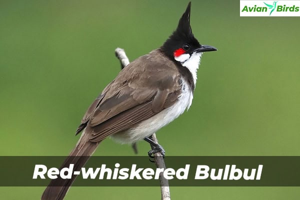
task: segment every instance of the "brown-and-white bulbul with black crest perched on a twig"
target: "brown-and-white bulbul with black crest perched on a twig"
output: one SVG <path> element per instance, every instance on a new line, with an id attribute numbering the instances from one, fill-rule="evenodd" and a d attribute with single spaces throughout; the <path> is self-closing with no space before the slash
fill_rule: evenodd
<path id="1" fill-rule="evenodd" d="M 160 47 L 125 66 L 91 103 L 76 130 L 81 136 L 61 168 L 73 163 L 73 170 L 80 170 L 107 137 L 120 143 L 151 143 L 152 133 L 189 108 L 202 53 L 217 50 L 194 37 L 190 5 Z M 75 177 L 52 179 L 41 199 L 63 199 Z"/>

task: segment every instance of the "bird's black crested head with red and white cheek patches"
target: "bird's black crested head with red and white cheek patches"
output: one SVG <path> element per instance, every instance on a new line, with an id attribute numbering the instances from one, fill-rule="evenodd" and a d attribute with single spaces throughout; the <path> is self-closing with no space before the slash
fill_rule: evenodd
<path id="1" fill-rule="evenodd" d="M 201 45 L 191 31 L 190 22 L 190 2 L 185 12 L 179 19 L 177 28 L 161 46 L 162 51 L 171 59 L 180 62 L 183 66 L 188 62 L 197 62 L 205 51 L 216 50 L 213 46 Z M 185 63 L 185 64 L 184 64 Z"/>

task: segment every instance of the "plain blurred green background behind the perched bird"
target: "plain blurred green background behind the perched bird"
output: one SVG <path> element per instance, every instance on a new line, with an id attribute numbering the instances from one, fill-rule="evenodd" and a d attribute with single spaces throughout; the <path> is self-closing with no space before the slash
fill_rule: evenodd
<path id="1" fill-rule="evenodd" d="M 159 47 L 187 0 L 1 0 L 0 155 L 67 155 L 85 109 L 130 60 Z M 204 53 L 193 104 L 158 133 L 166 155 L 299 155 L 297 17 L 239 17 L 239 1 L 194 0 Z M 179 148 L 178 146 L 184 146 Z M 138 143 L 139 155 L 149 150 Z M 95 155 L 133 155 L 107 139 Z M 21 167 L 21 166 L 20 166 Z M 1 187 L 38 199 L 44 187 Z M 171 187 L 172 199 L 298 199 L 298 187 Z M 158 187 L 71 187 L 65 199 L 160 199 Z"/>

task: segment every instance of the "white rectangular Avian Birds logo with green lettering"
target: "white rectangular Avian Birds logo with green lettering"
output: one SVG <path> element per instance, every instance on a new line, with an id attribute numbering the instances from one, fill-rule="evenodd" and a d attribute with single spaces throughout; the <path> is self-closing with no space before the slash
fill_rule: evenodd
<path id="1" fill-rule="evenodd" d="M 300 16 L 300 0 L 240 0 L 240 16 Z"/>

